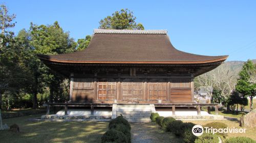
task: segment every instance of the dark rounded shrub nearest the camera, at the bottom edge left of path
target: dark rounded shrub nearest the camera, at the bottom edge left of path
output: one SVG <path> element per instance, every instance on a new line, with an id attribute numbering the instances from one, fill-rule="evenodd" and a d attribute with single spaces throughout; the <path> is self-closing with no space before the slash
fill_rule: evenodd
<path id="1" fill-rule="evenodd" d="M 115 129 L 106 131 L 101 137 L 101 142 L 127 142 L 126 136 Z"/>

